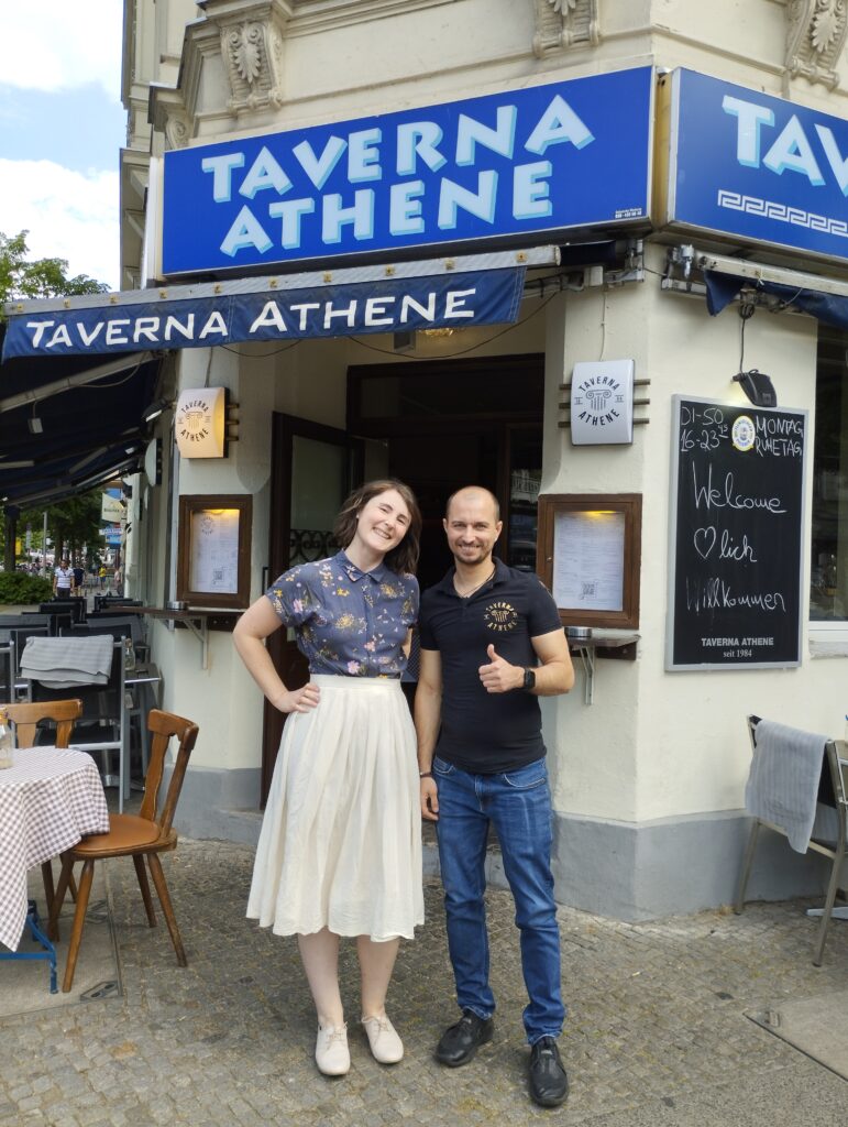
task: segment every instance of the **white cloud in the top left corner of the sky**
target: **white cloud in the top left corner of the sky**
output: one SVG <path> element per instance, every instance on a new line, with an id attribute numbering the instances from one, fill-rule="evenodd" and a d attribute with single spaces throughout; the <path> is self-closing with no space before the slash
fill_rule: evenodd
<path id="1" fill-rule="evenodd" d="M 0 77 L 25 90 L 98 82 L 120 98 L 122 0 L 0 3 Z M 83 10 L 84 9 L 84 10 Z"/>

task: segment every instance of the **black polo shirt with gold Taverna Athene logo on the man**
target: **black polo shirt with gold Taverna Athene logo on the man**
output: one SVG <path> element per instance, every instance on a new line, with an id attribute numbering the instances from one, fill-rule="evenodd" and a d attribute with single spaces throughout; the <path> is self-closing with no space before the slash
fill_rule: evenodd
<path id="1" fill-rule="evenodd" d="M 562 630 L 556 604 L 541 580 L 496 560 L 492 579 L 468 598 L 454 588 L 454 569 L 421 596 L 422 649 L 441 657 L 441 729 L 436 754 L 463 771 L 493 774 L 545 754 L 538 699 L 516 689 L 488 693 L 480 666 L 487 649 L 510 665 L 534 666 L 532 638 Z"/>

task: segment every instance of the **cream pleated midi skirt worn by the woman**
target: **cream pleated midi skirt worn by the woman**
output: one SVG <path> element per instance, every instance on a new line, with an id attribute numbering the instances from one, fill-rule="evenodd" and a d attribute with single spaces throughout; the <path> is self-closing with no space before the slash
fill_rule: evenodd
<path id="1" fill-rule="evenodd" d="M 283 729 L 248 916 L 277 935 L 376 941 L 423 923 L 416 735 L 400 682 L 314 675 Z"/>

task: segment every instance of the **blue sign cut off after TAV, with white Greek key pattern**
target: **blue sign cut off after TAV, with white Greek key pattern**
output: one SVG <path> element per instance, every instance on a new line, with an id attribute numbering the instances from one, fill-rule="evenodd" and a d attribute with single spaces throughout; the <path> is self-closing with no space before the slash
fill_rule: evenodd
<path id="1" fill-rule="evenodd" d="M 669 219 L 848 258 L 848 121 L 675 72 Z"/>

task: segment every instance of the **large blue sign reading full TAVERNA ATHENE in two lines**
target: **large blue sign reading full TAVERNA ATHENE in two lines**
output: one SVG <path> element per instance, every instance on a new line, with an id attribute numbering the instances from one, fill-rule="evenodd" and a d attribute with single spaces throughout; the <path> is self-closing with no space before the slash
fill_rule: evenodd
<path id="1" fill-rule="evenodd" d="M 644 220 L 653 71 L 179 149 L 166 274 Z"/>

